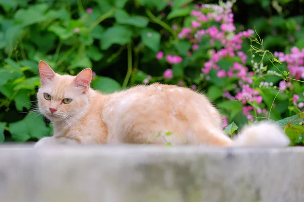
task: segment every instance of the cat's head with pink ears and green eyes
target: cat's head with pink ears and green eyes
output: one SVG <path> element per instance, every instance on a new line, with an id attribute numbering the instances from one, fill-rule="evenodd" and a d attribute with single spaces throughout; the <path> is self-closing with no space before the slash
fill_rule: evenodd
<path id="1" fill-rule="evenodd" d="M 84 69 L 77 76 L 59 75 L 40 61 L 41 87 L 37 92 L 40 112 L 51 121 L 69 122 L 80 118 L 89 107 L 92 70 Z"/>

